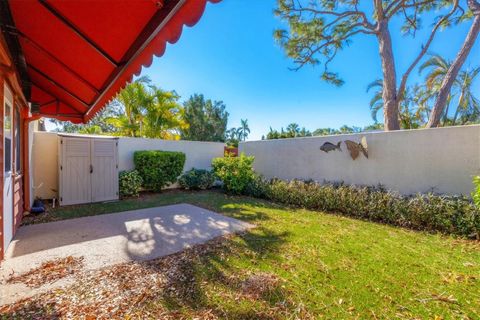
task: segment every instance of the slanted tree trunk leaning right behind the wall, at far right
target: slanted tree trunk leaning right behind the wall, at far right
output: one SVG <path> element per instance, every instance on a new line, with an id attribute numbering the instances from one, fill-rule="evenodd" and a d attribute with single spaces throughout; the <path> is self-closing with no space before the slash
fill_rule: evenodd
<path id="1" fill-rule="evenodd" d="M 437 99 L 435 100 L 432 112 L 430 113 L 430 118 L 428 119 L 427 128 L 438 126 L 443 110 L 447 104 L 448 95 L 450 94 L 453 83 L 455 82 L 455 79 L 457 78 L 458 73 L 467 59 L 473 45 L 475 44 L 475 40 L 477 39 L 479 31 L 480 14 L 477 12 L 473 19 L 470 30 L 468 31 L 467 37 L 465 38 L 465 42 L 460 49 L 460 52 L 457 54 L 455 61 L 453 61 L 452 65 L 447 71 L 447 74 L 445 75 L 445 78 L 442 81 L 442 85 L 438 91 Z"/>

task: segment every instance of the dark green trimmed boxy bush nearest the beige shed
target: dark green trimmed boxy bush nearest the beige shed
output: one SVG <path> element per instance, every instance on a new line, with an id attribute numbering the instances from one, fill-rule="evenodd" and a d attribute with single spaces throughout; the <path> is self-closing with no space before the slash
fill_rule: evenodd
<path id="1" fill-rule="evenodd" d="M 185 154 L 172 151 L 135 151 L 135 169 L 143 179 L 143 187 L 160 191 L 177 181 L 183 171 Z"/>

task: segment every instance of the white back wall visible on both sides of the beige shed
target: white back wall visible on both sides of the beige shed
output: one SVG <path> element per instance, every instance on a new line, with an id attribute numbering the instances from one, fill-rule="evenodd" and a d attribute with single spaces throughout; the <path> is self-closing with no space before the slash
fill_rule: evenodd
<path id="1" fill-rule="evenodd" d="M 180 151 L 185 153 L 184 170 L 209 169 L 212 159 L 223 156 L 223 143 L 123 138 L 118 140 L 119 170 L 131 170 L 137 150 Z M 34 132 L 32 143 L 33 181 L 31 194 L 42 199 L 57 197 L 58 137 L 53 132 Z"/>

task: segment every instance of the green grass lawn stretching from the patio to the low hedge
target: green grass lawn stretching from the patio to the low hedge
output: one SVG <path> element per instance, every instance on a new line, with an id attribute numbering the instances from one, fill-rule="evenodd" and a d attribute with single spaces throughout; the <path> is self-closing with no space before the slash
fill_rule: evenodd
<path id="1" fill-rule="evenodd" d="M 190 262 L 192 297 L 159 294 L 142 302 L 143 310 L 161 307 L 178 318 L 205 310 L 228 319 L 480 318 L 478 242 L 220 192 L 172 191 L 57 208 L 43 221 L 182 202 L 257 227 Z M 242 283 L 252 276 L 276 280 L 268 290 L 246 294 Z"/>

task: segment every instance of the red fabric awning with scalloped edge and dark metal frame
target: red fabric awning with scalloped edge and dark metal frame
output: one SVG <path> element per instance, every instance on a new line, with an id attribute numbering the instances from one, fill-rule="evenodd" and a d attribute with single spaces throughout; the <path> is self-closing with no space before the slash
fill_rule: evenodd
<path id="1" fill-rule="evenodd" d="M 153 56 L 193 26 L 207 1 L 12 0 L 10 14 L 37 115 L 90 120 Z"/>

